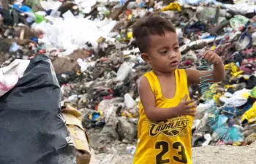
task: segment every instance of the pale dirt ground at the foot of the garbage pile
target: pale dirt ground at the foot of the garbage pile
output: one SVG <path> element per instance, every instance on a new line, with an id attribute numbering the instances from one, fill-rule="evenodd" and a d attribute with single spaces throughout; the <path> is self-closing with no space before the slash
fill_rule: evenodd
<path id="1" fill-rule="evenodd" d="M 95 155 L 90 164 L 132 164 L 132 155 Z M 207 146 L 193 148 L 193 164 L 256 164 L 256 142 L 245 147 Z M 150 163 L 148 163 L 150 164 Z"/>

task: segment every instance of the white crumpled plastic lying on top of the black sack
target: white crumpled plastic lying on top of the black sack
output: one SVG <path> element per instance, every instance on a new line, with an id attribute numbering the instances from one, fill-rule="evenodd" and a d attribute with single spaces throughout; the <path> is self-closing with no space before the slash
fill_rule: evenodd
<path id="1" fill-rule="evenodd" d="M 9 66 L 0 69 L 0 97 L 16 85 L 28 66 L 29 60 L 17 59 Z"/>

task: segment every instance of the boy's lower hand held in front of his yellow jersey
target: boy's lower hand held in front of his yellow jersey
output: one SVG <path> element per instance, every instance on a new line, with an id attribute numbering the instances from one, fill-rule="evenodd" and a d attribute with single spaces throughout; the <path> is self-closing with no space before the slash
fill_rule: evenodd
<path id="1" fill-rule="evenodd" d="M 181 100 L 180 104 L 178 104 L 178 115 L 191 115 L 195 116 L 195 104 L 189 105 L 193 103 L 194 101 L 190 100 L 187 101 L 187 95 L 184 96 L 184 98 Z"/>

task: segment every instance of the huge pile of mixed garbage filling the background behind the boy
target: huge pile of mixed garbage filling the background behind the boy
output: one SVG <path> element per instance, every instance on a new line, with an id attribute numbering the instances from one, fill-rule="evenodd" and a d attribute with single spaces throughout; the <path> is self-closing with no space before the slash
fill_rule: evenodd
<path id="1" fill-rule="evenodd" d="M 61 85 L 62 105 L 77 108 L 83 127 L 97 130 L 90 134 L 91 146 L 135 143 L 137 80 L 150 67 L 140 58 L 132 25 L 147 12 L 176 26 L 180 69 L 200 69 L 200 55 L 208 49 L 225 62 L 226 80 L 209 87 L 214 90 L 211 100 L 200 85 L 189 88 L 198 104 L 193 147 L 255 141 L 254 0 L 3 1 L 0 64 L 48 55 Z M 135 147 L 128 149 L 133 153 Z"/>

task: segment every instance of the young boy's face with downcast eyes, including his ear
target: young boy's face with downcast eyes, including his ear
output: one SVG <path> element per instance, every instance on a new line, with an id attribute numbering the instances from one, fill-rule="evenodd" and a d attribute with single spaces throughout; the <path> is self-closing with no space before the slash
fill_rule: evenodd
<path id="1" fill-rule="evenodd" d="M 165 36 L 151 35 L 149 39 L 148 53 L 142 53 L 141 58 L 149 63 L 154 71 L 175 71 L 181 60 L 177 34 L 165 31 Z"/>

